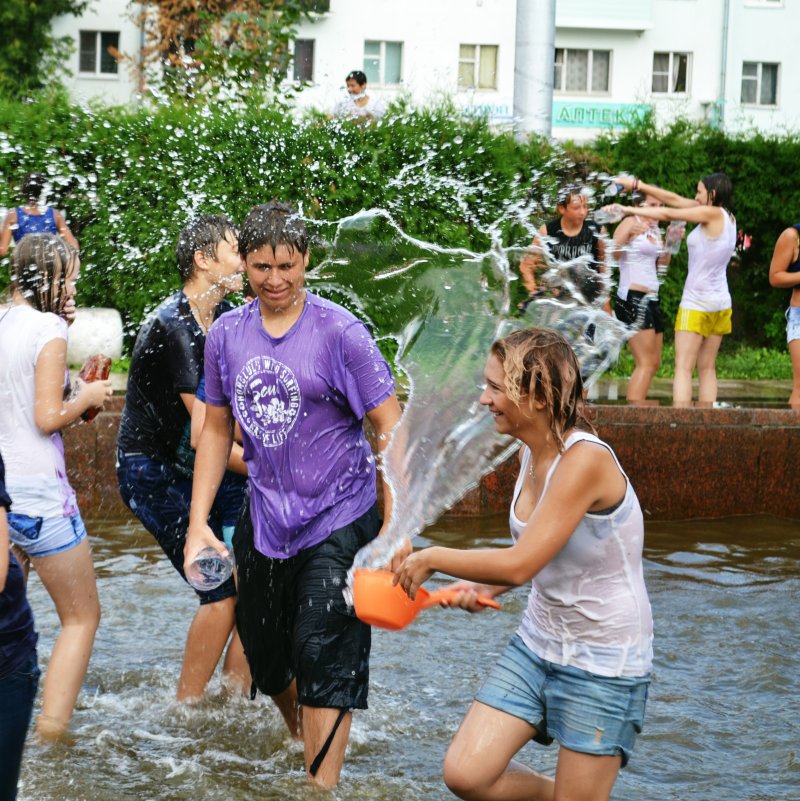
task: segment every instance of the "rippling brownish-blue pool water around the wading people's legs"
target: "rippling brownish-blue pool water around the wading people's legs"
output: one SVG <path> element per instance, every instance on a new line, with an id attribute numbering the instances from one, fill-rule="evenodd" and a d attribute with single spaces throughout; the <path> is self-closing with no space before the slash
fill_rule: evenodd
<path id="1" fill-rule="evenodd" d="M 172 701 L 193 593 L 138 527 L 91 532 L 103 620 L 74 743 L 28 747 L 20 799 L 318 799 L 269 701 L 226 698 L 218 684 L 197 706 Z M 506 541 L 500 517 L 448 518 L 426 534 L 462 547 Z M 800 798 L 798 557 L 796 521 L 648 525 L 654 681 L 615 799 Z M 46 663 L 56 623 L 35 577 L 30 597 Z M 370 709 L 355 716 L 331 798 L 452 798 L 444 751 L 524 603 L 517 590 L 499 613 L 433 609 L 405 631 L 375 631 Z M 552 773 L 555 757 L 532 745 L 522 758 Z"/>

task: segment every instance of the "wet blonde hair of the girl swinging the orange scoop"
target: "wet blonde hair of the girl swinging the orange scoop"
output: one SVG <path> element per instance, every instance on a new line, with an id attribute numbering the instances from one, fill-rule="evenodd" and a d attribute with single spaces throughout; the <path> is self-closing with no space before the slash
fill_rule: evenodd
<path id="1" fill-rule="evenodd" d="M 564 450 L 564 434 L 572 428 L 594 432 L 586 416 L 583 379 L 575 352 L 561 334 L 525 328 L 498 339 L 491 353 L 503 365 L 506 395 L 512 403 L 544 403 L 550 431 Z"/>

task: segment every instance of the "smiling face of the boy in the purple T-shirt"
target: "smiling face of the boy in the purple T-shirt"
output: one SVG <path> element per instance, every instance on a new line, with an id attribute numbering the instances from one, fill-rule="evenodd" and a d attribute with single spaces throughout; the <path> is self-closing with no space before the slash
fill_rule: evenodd
<path id="1" fill-rule="evenodd" d="M 263 245 L 247 254 L 245 266 L 262 312 L 280 315 L 303 302 L 308 251 Z"/>

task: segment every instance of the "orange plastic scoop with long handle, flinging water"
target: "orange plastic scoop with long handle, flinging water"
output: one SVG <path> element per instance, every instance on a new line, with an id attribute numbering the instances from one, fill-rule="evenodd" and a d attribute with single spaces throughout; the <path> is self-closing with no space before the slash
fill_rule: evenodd
<path id="1" fill-rule="evenodd" d="M 391 570 L 360 568 L 354 571 L 353 606 L 359 620 L 370 626 L 397 631 L 411 623 L 423 609 L 438 606 L 459 593 L 459 590 L 448 587 L 434 592 L 420 587 L 412 601 L 399 584 L 392 584 L 393 580 Z M 492 609 L 500 608 L 497 601 L 485 595 L 478 596 L 478 603 Z"/>

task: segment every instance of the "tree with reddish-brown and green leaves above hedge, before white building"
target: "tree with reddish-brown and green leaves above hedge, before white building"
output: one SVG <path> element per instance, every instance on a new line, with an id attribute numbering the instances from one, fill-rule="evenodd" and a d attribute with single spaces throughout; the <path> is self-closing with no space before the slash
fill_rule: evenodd
<path id="1" fill-rule="evenodd" d="M 138 16 L 145 85 L 182 98 L 263 95 L 286 76 L 308 0 L 150 0 Z"/>

